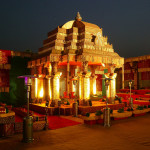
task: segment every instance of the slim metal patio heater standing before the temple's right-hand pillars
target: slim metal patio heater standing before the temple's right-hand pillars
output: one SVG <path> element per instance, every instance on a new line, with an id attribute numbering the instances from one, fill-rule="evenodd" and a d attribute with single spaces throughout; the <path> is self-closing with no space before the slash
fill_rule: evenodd
<path id="1" fill-rule="evenodd" d="M 110 127 L 110 108 L 108 107 L 108 97 L 107 90 L 110 85 L 110 78 L 105 78 L 105 87 L 106 87 L 106 108 L 104 108 L 104 127 Z"/>

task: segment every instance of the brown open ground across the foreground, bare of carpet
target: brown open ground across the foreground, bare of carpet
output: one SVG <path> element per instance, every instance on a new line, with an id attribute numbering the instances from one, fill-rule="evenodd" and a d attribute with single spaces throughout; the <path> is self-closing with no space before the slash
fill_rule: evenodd
<path id="1" fill-rule="evenodd" d="M 110 128 L 84 124 L 34 133 L 33 143 L 22 135 L 0 139 L 0 150 L 150 150 L 150 113 L 112 121 Z"/>

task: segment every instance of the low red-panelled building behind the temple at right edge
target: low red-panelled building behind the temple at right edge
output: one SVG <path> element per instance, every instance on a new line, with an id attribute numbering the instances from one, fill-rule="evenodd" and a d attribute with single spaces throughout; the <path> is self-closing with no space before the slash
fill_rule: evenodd
<path id="1" fill-rule="evenodd" d="M 150 55 L 131 57 L 124 60 L 124 69 L 116 70 L 117 89 L 122 88 L 121 80 L 124 78 L 124 88 L 129 88 L 129 81 L 132 80 L 132 89 L 150 88 Z"/>

